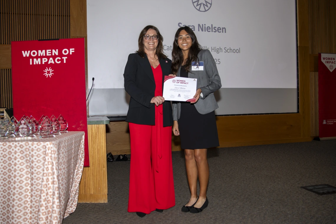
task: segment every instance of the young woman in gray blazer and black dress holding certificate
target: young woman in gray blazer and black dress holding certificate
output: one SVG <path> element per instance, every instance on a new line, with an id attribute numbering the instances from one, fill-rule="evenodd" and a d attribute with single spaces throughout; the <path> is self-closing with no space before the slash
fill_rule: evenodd
<path id="1" fill-rule="evenodd" d="M 191 192 L 182 212 L 199 213 L 208 206 L 209 165 L 207 148 L 219 146 L 213 93 L 221 87 L 215 60 L 209 50 L 202 50 L 195 33 L 181 27 L 175 34 L 172 51 L 172 72 L 178 77 L 197 79 L 195 103 L 172 103 L 173 133 L 180 135 Z M 193 66 L 192 66 L 193 65 Z M 202 66 L 203 65 L 203 66 Z M 197 178 L 200 195 L 197 196 Z"/>

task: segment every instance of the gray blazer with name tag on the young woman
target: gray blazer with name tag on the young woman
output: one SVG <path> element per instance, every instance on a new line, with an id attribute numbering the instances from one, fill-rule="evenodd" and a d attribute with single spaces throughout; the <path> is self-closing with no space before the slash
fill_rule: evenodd
<path id="1" fill-rule="evenodd" d="M 188 78 L 197 79 L 197 89 L 201 88 L 203 97 L 195 103 L 195 107 L 200 114 L 208 114 L 218 108 L 215 96 L 213 93 L 220 89 L 220 77 L 218 75 L 215 60 L 209 50 L 201 50 L 198 53 L 198 60 L 204 62 L 203 71 L 191 71 L 188 73 Z M 181 67 L 178 69 L 176 76 L 180 77 Z M 202 95 L 201 94 L 201 95 Z M 173 120 L 180 119 L 181 103 L 178 101 L 172 102 Z"/>

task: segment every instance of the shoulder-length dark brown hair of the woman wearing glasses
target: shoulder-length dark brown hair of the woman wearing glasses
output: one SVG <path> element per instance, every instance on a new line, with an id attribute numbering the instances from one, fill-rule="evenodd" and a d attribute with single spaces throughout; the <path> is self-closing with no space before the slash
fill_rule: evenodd
<path id="1" fill-rule="evenodd" d="M 152 25 L 148 25 L 145 28 L 142 29 L 142 31 L 140 32 L 139 35 L 139 39 L 138 39 L 138 45 L 139 45 L 139 49 L 137 51 L 135 51 L 135 53 L 138 53 L 141 57 L 145 57 L 145 47 L 143 45 L 143 36 L 147 33 L 147 31 L 149 29 L 153 29 L 156 31 L 156 33 L 158 34 L 159 38 L 158 38 L 158 46 L 156 48 L 156 55 L 158 56 L 158 59 L 160 60 L 161 58 L 165 59 L 167 58 L 167 55 L 165 55 L 165 53 L 163 53 L 163 37 L 160 34 L 160 31 L 158 28 L 152 26 Z"/>

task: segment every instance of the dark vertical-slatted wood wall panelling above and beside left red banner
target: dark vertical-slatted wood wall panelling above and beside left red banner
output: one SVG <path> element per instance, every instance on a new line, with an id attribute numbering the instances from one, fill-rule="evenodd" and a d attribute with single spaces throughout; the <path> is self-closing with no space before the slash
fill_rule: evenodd
<path id="1" fill-rule="evenodd" d="M 55 38 L 70 38 L 70 0 L 0 1 L 0 45 L 8 46 L 11 41 Z M 8 66 L 11 57 L 1 55 L 0 105 L 9 108 L 13 105 L 11 76 L 2 76 L 11 74 L 11 71 L 4 70 L 11 68 Z M 6 66 L 1 66 L 4 61 L 7 61 Z"/>

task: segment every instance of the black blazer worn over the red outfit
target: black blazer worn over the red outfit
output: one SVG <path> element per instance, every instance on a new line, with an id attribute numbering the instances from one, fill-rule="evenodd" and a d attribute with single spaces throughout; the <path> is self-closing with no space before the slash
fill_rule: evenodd
<path id="1" fill-rule="evenodd" d="M 172 74 L 171 60 L 159 60 L 162 69 L 162 89 L 164 76 Z M 151 103 L 155 94 L 155 80 L 147 56 L 138 53 L 128 55 L 124 72 L 124 87 L 131 96 L 126 122 L 142 125 L 155 125 L 155 104 Z M 172 108 L 170 101 L 163 103 L 163 127 L 172 126 Z"/>

